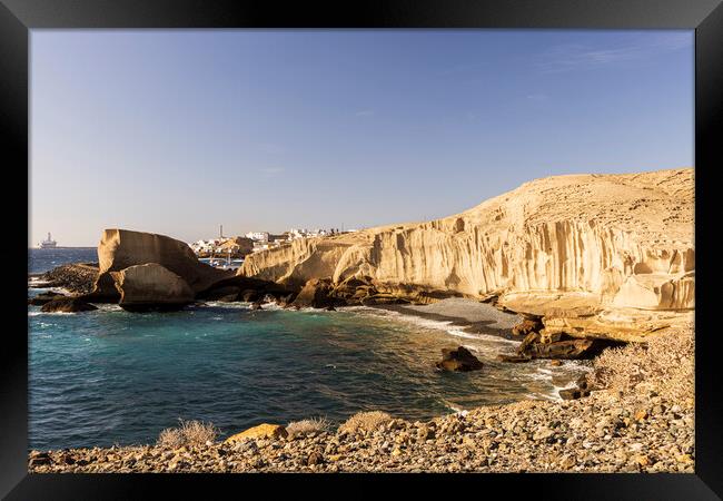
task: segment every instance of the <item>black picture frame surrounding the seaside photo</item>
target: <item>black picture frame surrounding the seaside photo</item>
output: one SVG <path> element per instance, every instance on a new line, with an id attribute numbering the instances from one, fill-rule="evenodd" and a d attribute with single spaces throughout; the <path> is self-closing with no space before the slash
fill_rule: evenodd
<path id="1" fill-rule="evenodd" d="M 27 273 L 17 264 L 27 258 L 29 207 L 29 30 L 36 28 L 580 28 L 580 29 L 694 29 L 695 30 L 695 219 L 720 213 L 710 195 L 715 189 L 715 160 L 723 155 L 723 7 L 721 0 L 386 0 L 356 3 L 314 4 L 229 0 L 0 0 L 0 141 L 6 160 L 6 196 L 2 199 L 6 228 L 0 246 L 7 263 L 3 363 L 0 365 L 0 494 L 7 499 L 138 499 L 151 488 L 170 489 L 204 498 L 215 497 L 217 487 L 232 492 L 270 475 L 61 475 L 28 474 L 28 345 L 27 306 L 23 294 Z M 23 173 L 26 176 L 23 177 Z M 10 176 L 14 180 L 10 180 Z M 23 181 L 24 179 L 24 181 Z M 24 184 L 23 184 L 24 183 Z M 26 188 L 23 191 L 23 187 Z M 10 196 L 14 194 L 17 196 Z M 24 227 L 23 227 L 24 224 Z M 425 484 L 450 481 L 449 487 L 474 488 L 488 495 L 491 487 L 507 493 L 527 493 L 555 499 L 721 499 L 723 495 L 721 390 L 716 370 L 715 337 L 706 330 L 712 317 L 716 275 L 706 269 L 714 263 L 709 249 L 717 233 L 700 225 L 695 234 L 699 261 L 704 272 L 696 279 L 696 418 L 695 474 L 464 474 L 464 475 L 283 475 L 285 487 L 324 489 L 328 482 L 358 484 L 380 492 L 385 482 Z M 706 232 L 712 228 L 712 232 Z M 8 285 L 10 284 L 10 285 Z M 12 322 L 10 322 L 12 320 Z M 24 330 L 24 332 L 23 332 Z M 373 482 L 369 482 L 373 480 Z M 212 482 L 212 485 L 209 485 Z M 320 483 L 323 482 L 323 483 Z M 382 483 L 379 483 L 382 482 Z M 494 485 L 493 485 L 494 484 Z M 503 485 L 504 484 L 504 485 Z M 367 487 L 368 485 L 368 487 Z M 424 485 L 419 485 L 424 487 Z M 346 485 L 337 485 L 348 495 Z M 405 488 L 406 489 L 406 488 Z M 182 491 L 181 491 L 182 490 Z M 454 491 L 453 491 L 454 492 Z M 251 494 L 252 495 L 252 494 Z M 499 494 L 498 494 L 499 495 Z"/>

